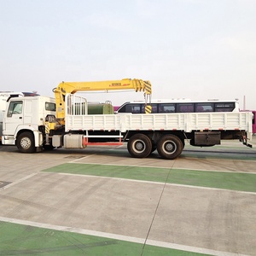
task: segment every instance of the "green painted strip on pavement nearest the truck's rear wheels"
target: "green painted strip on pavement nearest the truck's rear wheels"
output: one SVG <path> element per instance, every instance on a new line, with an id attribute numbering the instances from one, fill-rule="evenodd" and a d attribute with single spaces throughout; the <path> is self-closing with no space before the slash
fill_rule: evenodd
<path id="1" fill-rule="evenodd" d="M 160 183 L 176 183 L 215 189 L 256 192 L 256 174 L 210 172 L 139 166 L 107 166 L 67 163 L 45 169 L 43 172 L 61 172 L 99 177 L 119 177 Z"/>

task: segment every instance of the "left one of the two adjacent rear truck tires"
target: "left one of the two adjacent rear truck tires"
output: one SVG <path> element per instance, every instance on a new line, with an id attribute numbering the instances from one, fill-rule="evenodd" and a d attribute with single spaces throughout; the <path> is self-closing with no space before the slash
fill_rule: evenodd
<path id="1" fill-rule="evenodd" d="M 127 148 L 131 156 L 143 158 L 151 153 L 152 143 L 148 136 L 138 133 L 129 139 Z"/>

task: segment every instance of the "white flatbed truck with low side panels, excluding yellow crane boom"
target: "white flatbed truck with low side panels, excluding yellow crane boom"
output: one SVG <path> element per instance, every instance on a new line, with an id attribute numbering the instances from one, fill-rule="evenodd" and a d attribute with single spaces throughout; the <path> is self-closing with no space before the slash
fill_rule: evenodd
<path id="1" fill-rule="evenodd" d="M 251 112 L 88 114 L 86 99 L 74 94 L 65 95 L 64 105 L 60 121 L 56 107 L 61 105 L 56 106 L 54 98 L 10 99 L 3 120 L 3 144 L 33 153 L 43 148 L 127 143 L 133 157 L 144 158 L 157 149 L 168 160 L 182 153 L 187 139 L 200 147 L 240 139 L 252 147 Z"/>

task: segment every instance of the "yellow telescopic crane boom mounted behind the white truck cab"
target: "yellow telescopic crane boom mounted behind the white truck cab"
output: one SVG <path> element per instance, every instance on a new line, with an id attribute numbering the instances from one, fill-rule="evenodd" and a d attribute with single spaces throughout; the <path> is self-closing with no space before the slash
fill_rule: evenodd
<path id="1" fill-rule="evenodd" d="M 55 93 L 56 100 L 56 117 L 65 123 L 65 96 L 70 93 L 76 93 L 78 91 L 91 91 L 91 90 L 135 90 L 143 91 L 147 100 L 150 99 L 152 94 L 152 88 L 149 81 L 142 79 L 122 79 L 122 80 L 110 80 L 99 82 L 62 82 L 53 91 Z M 147 105 L 147 101 L 146 101 Z M 151 113 L 151 106 L 148 105 L 148 113 Z"/>

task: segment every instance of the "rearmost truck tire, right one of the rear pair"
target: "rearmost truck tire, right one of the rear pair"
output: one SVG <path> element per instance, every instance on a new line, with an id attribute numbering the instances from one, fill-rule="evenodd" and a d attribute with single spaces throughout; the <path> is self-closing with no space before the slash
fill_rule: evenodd
<path id="1" fill-rule="evenodd" d="M 165 135 L 157 143 L 157 151 L 164 159 L 173 160 L 183 151 L 183 143 L 175 135 Z"/>

